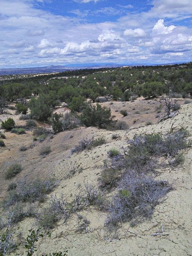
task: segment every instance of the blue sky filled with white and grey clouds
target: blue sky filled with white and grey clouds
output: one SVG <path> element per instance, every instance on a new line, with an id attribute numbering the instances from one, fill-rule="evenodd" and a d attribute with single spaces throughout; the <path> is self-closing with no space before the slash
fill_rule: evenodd
<path id="1" fill-rule="evenodd" d="M 192 61 L 192 0 L 0 0 L 0 68 Z"/>

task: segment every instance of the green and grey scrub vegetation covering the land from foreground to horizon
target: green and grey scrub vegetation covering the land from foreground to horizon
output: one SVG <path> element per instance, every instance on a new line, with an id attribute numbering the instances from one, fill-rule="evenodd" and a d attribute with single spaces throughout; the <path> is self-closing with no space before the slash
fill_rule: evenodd
<path id="1" fill-rule="evenodd" d="M 112 100 L 134 102 L 140 96 L 147 100 L 161 96 L 160 103 L 154 108 L 156 118 L 159 121 L 169 118 L 180 109 L 175 99 L 178 94 L 183 99 L 188 98 L 184 104 L 191 102 L 191 65 L 77 70 L 54 75 L 69 76 L 68 79 L 52 79 L 50 75 L 0 81 L 0 114 L 5 114 L 9 108 L 20 115 L 20 121 L 24 123 L 18 125 L 14 121 L 14 115 L 2 121 L 1 128 L 5 133 L 0 132 L 0 147 L 6 148 L 4 141 L 7 134 L 13 133 L 13 136 L 21 140 L 22 136 L 30 132 L 33 136 L 30 139 L 34 142 L 31 145 L 20 145 L 18 151 L 24 154 L 33 146 L 39 145 L 39 158 L 48 159 L 54 154 L 52 146 L 46 144 L 49 139 L 58 136 L 58 133 L 83 126 L 106 129 L 113 142 L 119 140 L 121 136 L 117 130 L 129 129 L 124 120 L 130 115 L 130 111 L 138 116 L 140 111 L 136 108 L 129 111 L 123 105 L 123 109 L 115 111 L 122 115 L 122 121 L 111 114 Z M 107 72 L 103 73 L 104 70 Z M 99 100 L 111 103 L 106 107 L 97 103 Z M 11 102 L 15 103 L 15 107 L 9 106 Z M 64 114 L 57 113 L 56 110 L 62 109 L 63 104 L 67 111 Z M 58 106 L 61 108 L 56 108 Z M 134 118 L 131 123 L 137 124 L 137 120 Z M 145 122 L 145 125 L 151 124 L 151 121 Z M 25 169 L 15 159 L 13 164 L 3 169 L 5 179 L 11 182 L 0 205 L 3 215 L 8 216 L 7 220 L 3 215 L 0 219 L 0 256 L 9 255 L 17 249 L 19 243 L 14 238 L 15 231 L 12 227 L 29 217 L 35 219 L 39 229 L 30 230 L 26 238 L 28 256 L 34 254 L 38 239 L 49 236 L 44 230 L 53 229 L 60 221 L 67 223 L 74 215 L 79 221 L 76 233 L 87 233 L 90 221 L 81 212 L 90 207 L 107 215 L 103 225 L 108 236 L 113 236 L 126 221 L 134 227 L 150 220 L 157 204 L 174 189 L 174 184 L 158 177 L 158 169 L 162 162 L 164 166 L 172 168 L 184 162 L 183 150 L 191 146 L 189 135 L 180 126 L 177 130 L 171 128 L 168 134 L 151 132 L 135 134 L 133 139 L 127 138 L 126 145 L 108 148 L 108 158 L 104 160 L 99 173 L 98 186 L 84 181 L 83 186 L 76 189 L 70 197 L 64 193 L 60 196 L 51 193 L 59 184 L 53 178 L 28 180 L 24 177 L 19 180 L 18 177 Z M 70 150 L 71 154 L 78 156 L 107 143 L 105 136 L 86 136 L 79 138 L 78 143 Z M 67 251 L 49 253 L 50 255 L 66 256 Z"/>

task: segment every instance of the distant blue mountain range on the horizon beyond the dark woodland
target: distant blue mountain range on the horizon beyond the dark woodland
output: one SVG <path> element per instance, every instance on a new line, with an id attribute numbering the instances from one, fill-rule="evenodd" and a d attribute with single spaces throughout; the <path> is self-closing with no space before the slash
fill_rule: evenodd
<path id="1" fill-rule="evenodd" d="M 47 66 L 47 67 L 24 67 L 24 68 L 3 68 L 0 69 L 0 75 L 20 75 L 20 74 L 41 74 L 64 72 L 67 70 L 78 69 L 96 69 L 102 67 L 122 67 L 123 65 L 108 63 L 108 64 L 69 64 L 64 66 Z"/>

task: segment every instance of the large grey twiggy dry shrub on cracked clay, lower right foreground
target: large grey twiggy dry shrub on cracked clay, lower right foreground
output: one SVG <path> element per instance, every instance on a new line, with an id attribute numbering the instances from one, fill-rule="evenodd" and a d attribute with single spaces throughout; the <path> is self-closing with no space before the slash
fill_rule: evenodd
<path id="1" fill-rule="evenodd" d="M 123 221 L 150 218 L 154 207 L 170 190 L 172 186 L 165 180 L 130 172 L 123 177 L 118 192 L 113 196 L 106 224 L 116 226 Z"/>

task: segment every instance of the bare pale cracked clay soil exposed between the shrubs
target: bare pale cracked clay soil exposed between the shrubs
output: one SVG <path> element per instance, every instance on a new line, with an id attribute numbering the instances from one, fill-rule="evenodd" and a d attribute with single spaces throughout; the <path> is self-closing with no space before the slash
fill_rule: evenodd
<path id="1" fill-rule="evenodd" d="M 148 103 L 149 102 L 149 103 Z M 98 186 L 98 177 L 101 173 L 103 160 L 107 158 L 107 152 L 110 148 L 121 148 L 126 145 L 127 138 L 132 138 L 134 134 L 169 132 L 173 122 L 174 127 L 182 125 L 188 131 L 192 131 L 192 104 L 183 105 L 179 110 L 179 114 L 172 119 L 164 122 L 156 123 L 155 115 L 157 111 L 155 106 L 159 102 L 154 100 L 144 101 L 142 98 L 134 102 L 105 102 L 102 105 L 111 108 L 112 114 L 117 119 L 121 119 L 128 123 L 133 130 L 125 131 L 106 131 L 97 128 L 76 128 L 70 131 L 64 131 L 54 135 L 52 139 L 49 137 L 42 143 L 35 142 L 33 148 L 27 151 L 19 151 L 21 145 L 33 143 L 32 131 L 26 134 L 16 135 L 6 132 L 5 148 L 0 148 L 0 200 L 6 195 L 6 189 L 9 183 L 15 182 L 22 178 L 33 179 L 35 177 L 46 178 L 55 177 L 60 182 L 52 195 L 64 194 L 66 198 L 73 198 L 77 187 L 83 188 L 84 182 Z M 180 104 L 183 100 L 179 101 Z M 135 108 L 135 110 L 133 110 Z M 128 111 L 128 116 L 122 117 L 119 112 L 121 109 Z M 140 114 L 135 114 L 139 111 Z M 18 119 L 18 115 L 1 115 L 0 119 L 5 120 L 11 116 L 17 124 L 24 121 Z M 137 122 L 133 124 L 133 119 Z M 153 125 L 145 125 L 146 121 L 151 121 Z M 42 125 L 42 124 L 41 124 Z M 3 130 L 2 130 L 3 131 Z M 112 140 L 112 134 L 119 134 L 120 138 Z M 70 136 L 73 135 L 72 138 Z M 104 136 L 107 143 L 90 151 L 82 151 L 79 154 L 71 154 L 71 148 L 78 144 L 83 137 Z M 40 157 L 39 150 L 44 145 L 51 146 L 51 153 L 47 157 Z M 122 224 L 118 230 L 118 240 L 110 240 L 104 227 L 107 217 L 106 212 L 98 211 L 94 207 L 89 207 L 80 212 L 83 217 L 90 221 L 87 233 L 76 233 L 78 227 L 78 218 L 72 216 L 66 223 L 60 221 L 58 225 L 51 231 L 51 239 L 42 239 L 38 244 L 38 253 L 53 252 L 68 249 L 69 256 L 189 256 L 192 255 L 191 250 L 191 199 L 192 199 L 192 182 L 191 182 L 191 158 L 192 149 L 184 152 L 185 163 L 177 168 L 164 168 L 158 170 L 160 179 L 168 180 L 174 186 L 174 190 L 169 192 L 166 200 L 157 205 L 150 221 L 145 221 L 134 227 L 130 227 L 130 223 Z M 19 161 L 23 166 L 20 172 L 12 180 L 4 179 L 4 169 L 10 163 Z M 72 170 L 75 169 L 75 173 Z M 51 195 L 49 195 L 50 197 Z M 161 224 L 169 236 L 151 236 L 160 230 Z M 35 220 L 28 218 L 19 223 L 22 236 L 26 237 L 30 227 L 35 227 Z M 134 233 L 130 233 L 134 232 Z M 15 253 L 16 254 L 16 253 Z M 13 255 L 15 255 L 13 254 Z"/>

